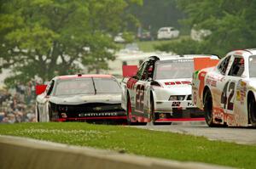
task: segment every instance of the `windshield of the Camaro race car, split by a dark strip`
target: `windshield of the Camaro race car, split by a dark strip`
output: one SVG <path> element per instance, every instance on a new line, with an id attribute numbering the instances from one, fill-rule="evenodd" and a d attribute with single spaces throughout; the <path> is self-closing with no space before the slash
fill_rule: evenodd
<path id="1" fill-rule="evenodd" d="M 93 78 L 96 93 L 120 93 L 118 82 L 113 79 Z M 95 94 L 92 78 L 61 79 L 56 82 L 55 96 Z"/>

